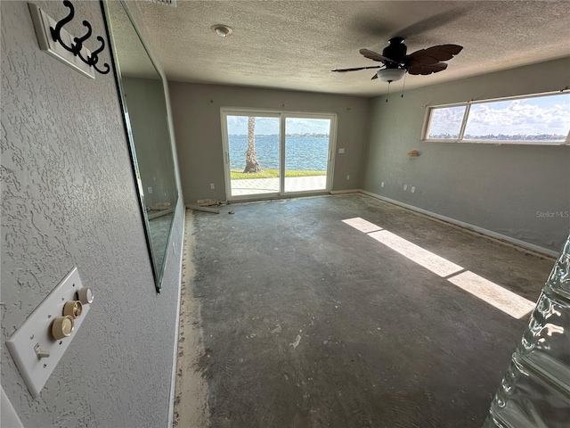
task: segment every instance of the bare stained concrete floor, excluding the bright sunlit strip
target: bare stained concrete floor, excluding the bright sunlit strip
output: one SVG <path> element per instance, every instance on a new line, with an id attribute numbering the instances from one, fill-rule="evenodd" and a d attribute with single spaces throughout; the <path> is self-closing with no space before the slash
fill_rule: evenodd
<path id="1" fill-rule="evenodd" d="M 181 361 L 208 384 L 204 426 L 483 424 L 527 316 L 342 222 L 356 217 L 528 300 L 554 263 L 360 193 L 194 211 L 203 352 Z"/>

